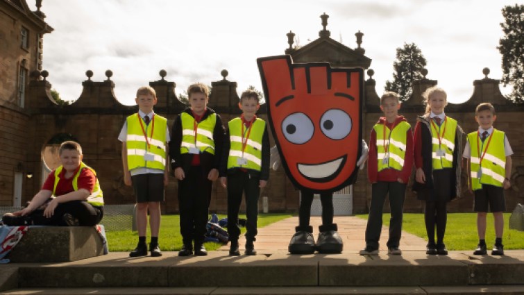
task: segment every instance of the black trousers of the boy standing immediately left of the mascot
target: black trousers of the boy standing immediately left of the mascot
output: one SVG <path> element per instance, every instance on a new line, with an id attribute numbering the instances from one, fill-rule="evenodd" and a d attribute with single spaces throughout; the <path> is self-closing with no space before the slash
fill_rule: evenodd
<path id="1" fill-rule="evenodd" d="M 258 196 L 260 195 L 260 178 L 248 172 L 235 171 L 228 174 L 228 234 L 231 242 L 237 242 L 240 235 L 238 213 L 242 194 L 246 196 L 246 239 L 255 241 L 257 235 Z"/>

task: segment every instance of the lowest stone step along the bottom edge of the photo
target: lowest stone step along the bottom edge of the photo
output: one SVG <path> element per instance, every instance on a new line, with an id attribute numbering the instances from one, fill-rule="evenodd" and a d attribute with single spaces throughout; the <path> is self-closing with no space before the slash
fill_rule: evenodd
<path id="1" fill-rule="evenodd" d="M 149 294 L 149 295 L 335 295 L 335 294 L 524 294 L 524 285 L 478 285 L 478 286 L 439 286 L 439 287 L 148 287 L 148 288 L 26 288 L 12 289 L 5 295 L 64 295 L 64 294 Z"/>

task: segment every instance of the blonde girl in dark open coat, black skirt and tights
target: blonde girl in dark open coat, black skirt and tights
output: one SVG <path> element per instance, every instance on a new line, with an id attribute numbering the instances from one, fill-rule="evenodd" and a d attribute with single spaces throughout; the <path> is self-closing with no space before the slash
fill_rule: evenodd
<path id="1" fill-rule="evenodd" d="M 423 94 L 425 114 L 416 120 L 414 161 L 416 168 L 413 190 L 425 201 L 425 228 L 428 233 L 428 255 L 448 255 L 444 233 L 449 201 L 460 196 L 462 135 L 457 120 L 446 116 L 447 95 L 438 87 Z M 437 228 L 437 242 L 435 242 Z"/>

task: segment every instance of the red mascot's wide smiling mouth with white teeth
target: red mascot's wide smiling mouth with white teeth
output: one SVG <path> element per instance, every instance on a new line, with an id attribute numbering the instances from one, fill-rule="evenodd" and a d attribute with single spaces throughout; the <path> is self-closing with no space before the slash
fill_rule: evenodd
<path id="1" fill-rule="evenodd" d="M 300 164 L 296 167 L 298 171 L 307 180 L 314 181 L 316 183 L 326 183 L 330 180 L 335 179 L 339 175 L 342 167 L 346 164 L 347 155 L 340 157 L 335 160 L 323 162 L 321 164 Z"/>

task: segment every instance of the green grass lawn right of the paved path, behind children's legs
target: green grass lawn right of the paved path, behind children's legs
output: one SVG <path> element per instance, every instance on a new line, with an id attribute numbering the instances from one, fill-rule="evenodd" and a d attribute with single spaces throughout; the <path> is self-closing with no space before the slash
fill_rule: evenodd
<path id="1" fill-rule="evenodd" d="M 524 249 L 524 232 L 510 230 L 509 216 L 511 213 L 504 214 L 504 235 L 502 244 L 505 249 Z M 357 217 L 367 219 L 367 214 L 359 214 Z M 384 214 L 382 220 L 384 226 L 389 226 L 389 214 Z M 424 214 L 405 213 L 403 228 L 405 232 L 428 239 L 425 233 Z M 448 224 L 444 243 L 448 250 L 472 250 L 478 244 L 477 235 L 477 214 L 475 213 L 450 213 L 448 214 Z M 486 244 L 488 248 L 495 243 L 495 229 L 493 228 L 493 214 L 488 214 Z"/>

